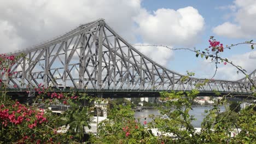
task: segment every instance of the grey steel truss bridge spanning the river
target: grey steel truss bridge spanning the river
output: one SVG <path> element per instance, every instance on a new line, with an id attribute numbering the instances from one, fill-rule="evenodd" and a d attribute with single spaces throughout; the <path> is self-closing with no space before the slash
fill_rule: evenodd
<path id="1" fill-rule="evenodd" d="M 80 25 L 72 31 L 31 49 L 11 67 L 8 79 L 16 89 L 53 86 L 81 91 L 150 92 L 191 91 L 252 93 L 252 83 L 196 79 L 178 74 L 152 61 L 120 37 L 104 20 Z M 1 77 L 0 77 L 1 78 Z M 255 71 L 249 75 L 255 83 Z M 24 83 L 25 85 L 20 85 Z M 201 85 L 196 87 L 196 85 Z"/>

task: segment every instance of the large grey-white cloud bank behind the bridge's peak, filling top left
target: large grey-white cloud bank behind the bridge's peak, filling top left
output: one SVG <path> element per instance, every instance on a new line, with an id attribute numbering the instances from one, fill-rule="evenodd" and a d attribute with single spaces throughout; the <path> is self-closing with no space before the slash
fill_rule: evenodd
<path id="1" fill-rule="evenodd" d="M 4 39 L 0 42 L 8 47 L 1 47 L 1 53 L 41 43 L 99 18 L 104 18 L 126 39 L 134 40 L 132 17 L 139 14 L 140 3 L 140 0 L 1 1 L 0 38 Z"/>

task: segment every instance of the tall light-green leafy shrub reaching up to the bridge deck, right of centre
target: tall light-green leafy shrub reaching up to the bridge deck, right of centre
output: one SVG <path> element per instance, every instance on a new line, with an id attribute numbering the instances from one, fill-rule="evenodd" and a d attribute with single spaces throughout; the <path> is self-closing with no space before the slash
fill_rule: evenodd
<path id="1" fill-rule="evenodd" d="M 195 129 L 191 124 L 195 120 L 189 115 L 191 105 L 197 90 L 191 92 L 162 92 L 161 99 L 166 103 L 159 109 L 161 116 L 153 116 L 154 121 L 150 123 L 150 128 L 156 128 L 162 135 L 170 135 L 165 137 L 167 143 L 195 143 Z"/>

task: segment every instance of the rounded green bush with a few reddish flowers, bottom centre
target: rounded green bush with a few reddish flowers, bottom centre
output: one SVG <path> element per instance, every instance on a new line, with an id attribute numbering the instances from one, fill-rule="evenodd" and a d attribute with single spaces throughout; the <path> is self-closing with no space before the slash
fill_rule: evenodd
<path id="1" fill-rule="evenodd" d="M 98 125 L 92 143 L 159 143 L 150 130 L 134 118 L 130 105 L 114 105 L 108 117 Z"/>

